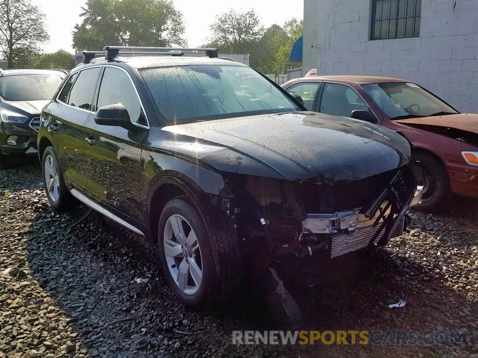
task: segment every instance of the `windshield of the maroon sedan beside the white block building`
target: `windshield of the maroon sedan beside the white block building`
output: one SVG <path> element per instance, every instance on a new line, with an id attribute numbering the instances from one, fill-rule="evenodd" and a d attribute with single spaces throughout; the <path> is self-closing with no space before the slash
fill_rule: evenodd
<path id="1" fill-rule="evenodd" d="M 362 84 L 362 88 L 391 120 L 457 113 L 417 84 L 386 82 Z"/>

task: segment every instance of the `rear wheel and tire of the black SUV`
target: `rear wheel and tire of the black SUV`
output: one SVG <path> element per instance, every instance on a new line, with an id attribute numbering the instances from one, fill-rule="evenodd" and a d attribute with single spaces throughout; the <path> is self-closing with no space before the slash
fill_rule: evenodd
<path id="1" fill-rule="evenodd" d="M 43 185 L 51 207 L 56 211 L 66 211 L 72 197 L 63 178 L 63 170 L 53 147 L 47 147 L 42 158 Z"/>

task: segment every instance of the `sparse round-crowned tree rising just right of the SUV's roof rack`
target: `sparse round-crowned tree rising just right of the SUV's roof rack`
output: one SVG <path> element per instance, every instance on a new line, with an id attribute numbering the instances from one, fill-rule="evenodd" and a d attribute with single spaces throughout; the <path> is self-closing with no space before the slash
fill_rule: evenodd
<path id="1" fill-rule="evenodd" d="M 209 28 L 213 35 L 207 47 L 216 47 L 226 53 L 250 53 L 253 44 L 264 34 L 261 20 L 253 9 L 244 12 L 231 9 L 217 15 Z"/>

